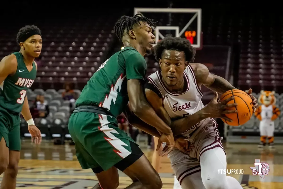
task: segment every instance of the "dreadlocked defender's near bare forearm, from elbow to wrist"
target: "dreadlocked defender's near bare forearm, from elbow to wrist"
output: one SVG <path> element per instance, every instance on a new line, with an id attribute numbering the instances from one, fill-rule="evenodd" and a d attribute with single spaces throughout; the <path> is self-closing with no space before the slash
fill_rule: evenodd
<path id="1" fill-rule="evenodd" d="M 147 102 L 141 102 L 141 105 L 135 107 L 134 114 L 146 124 L 153 126 L 165 135 L 170 135 L 171 128 L 160 119 L 153 108 Z"/>

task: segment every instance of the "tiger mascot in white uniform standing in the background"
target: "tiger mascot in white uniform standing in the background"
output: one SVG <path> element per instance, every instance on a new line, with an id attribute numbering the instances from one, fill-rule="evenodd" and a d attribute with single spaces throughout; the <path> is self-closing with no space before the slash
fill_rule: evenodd
<path id="1" fill-rule="evenodd" d="M 275 91 L 260 91 L 258 101 L 262 104 L 255 112 L 256 118 L 260 120 L 260 145 L 262 148 L 266 144 L 269 148 L 274 147 L 274 120 L 280 115 L 280 110 L 276 107 Z"/>

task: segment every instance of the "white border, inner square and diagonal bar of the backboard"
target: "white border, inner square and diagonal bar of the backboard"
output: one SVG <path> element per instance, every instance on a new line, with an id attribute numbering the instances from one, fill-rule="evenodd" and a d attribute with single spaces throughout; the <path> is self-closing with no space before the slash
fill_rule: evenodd
<path id="1" fill-rule="evenodd" d="M 201 9 L 186 9 L 186 8 L 134 8 L 134 15 L 135 14 L 142 14 L 143 12 L 164 12 L 164 13 L 195 13 L 194 16 L 189 20 L 186 26 L 179 32 L 179 27 L 177 26 L 156 26 L 153 30 L 156 32 L 156 43 L 161 39 L 164 39 L 164 36 L 159 32 L 159 30 L 175 30 L 176 36 L 180 37 L 185 30 L 190 26 L 190 24 L 196 19 L 197 17 L 197 44 L 193 44 L 194 48 L 201 47 Z M 177 29 L 178 28 L 178 29 Z M 178 30 L 178 32 L 177 32 Z"/>

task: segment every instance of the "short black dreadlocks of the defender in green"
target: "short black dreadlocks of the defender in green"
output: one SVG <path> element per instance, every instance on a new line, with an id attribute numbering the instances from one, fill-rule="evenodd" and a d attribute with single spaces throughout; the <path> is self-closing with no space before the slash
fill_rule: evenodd
<path id="1" fill-rule="evenodd" d="M 153 22 L 153 19 L 146 18 L 142 14 L 136 14 L 134 16 L 122 16 L 115 24 L 114 31 L 119 39 L 122 40 L 123 33 L 126 30 L 127 33 L 133 29 L 134 24 L 140 24 L 142 21 L 144 24 L 147 23 L 149 26 L 156 27 L 157 22 Z"/>

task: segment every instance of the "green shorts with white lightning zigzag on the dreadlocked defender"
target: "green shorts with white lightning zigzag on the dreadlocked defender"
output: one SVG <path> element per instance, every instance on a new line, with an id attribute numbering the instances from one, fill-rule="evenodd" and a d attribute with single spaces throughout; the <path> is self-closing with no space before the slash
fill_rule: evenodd
<path id="1" fill-rule="evenodd" d="M 114 166 L 124 171 L 143 155 L 127 133 L 118 128 L 117 119 L 112 116 L 73 112 L 68 129 L 82 169 L 91 168 L 94 173 L 100 173 Z"/>

